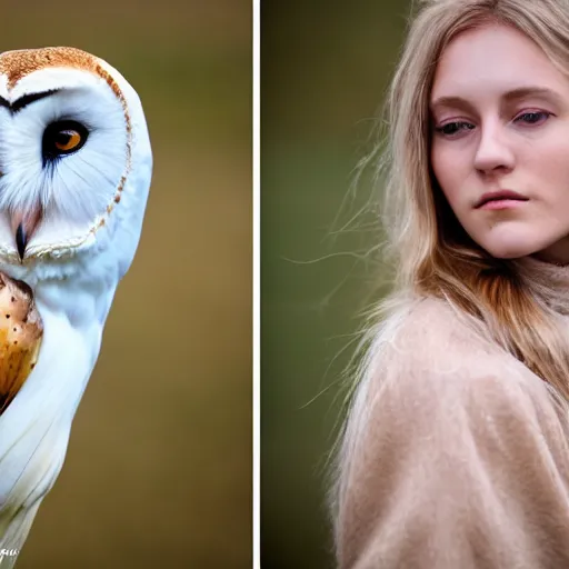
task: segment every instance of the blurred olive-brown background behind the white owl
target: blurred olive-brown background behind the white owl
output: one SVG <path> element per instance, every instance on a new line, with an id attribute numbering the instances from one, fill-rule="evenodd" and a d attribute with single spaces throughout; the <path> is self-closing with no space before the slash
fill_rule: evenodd
<path id="1" fill-rule="evenodd" d="M 69 44 L 119 69 L 154 151 L 140 248 L 17 567 L 248 568 L 250 1 L 3 8 L 1 51 Z"/>

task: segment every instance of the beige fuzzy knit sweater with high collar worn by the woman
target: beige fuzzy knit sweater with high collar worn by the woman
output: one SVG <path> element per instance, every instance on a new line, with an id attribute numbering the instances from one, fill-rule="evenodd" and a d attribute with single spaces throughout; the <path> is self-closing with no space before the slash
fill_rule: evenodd
<path id="1" fill-rule="evenodd" d="M 569 267 L 522 262 L 569 303 Z M 528 368 L 429 299 L 358 399 L 341 569 L 569 568 L 569 416 Z"/>

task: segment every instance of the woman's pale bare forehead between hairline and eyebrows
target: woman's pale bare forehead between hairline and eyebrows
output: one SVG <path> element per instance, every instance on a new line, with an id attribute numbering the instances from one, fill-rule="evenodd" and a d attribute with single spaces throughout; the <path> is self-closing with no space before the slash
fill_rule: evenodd
<path id="1" fill-rule="evenodd" d="M 460 33 L 443 50 L 431 100 L 490 97 L 528 81 L 569 96 L 567 78 L 530 38 L 507 26 L 487 24 Z"/>

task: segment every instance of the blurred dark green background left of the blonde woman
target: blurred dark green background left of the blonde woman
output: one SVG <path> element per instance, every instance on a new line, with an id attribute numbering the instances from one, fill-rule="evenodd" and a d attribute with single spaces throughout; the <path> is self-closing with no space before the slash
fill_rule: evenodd
<path id="1" fill-rule="evenodd" d="M 261 550 L 263 569 L 330 568 L 326 461 L 358 313 L 381 274 L 353 168 L 397 61 L 400 0 L 261 6 Z M 335 232 L 336 231 L 336 232 Z M 370 262 L 367 262 L 367 261 Z"/>

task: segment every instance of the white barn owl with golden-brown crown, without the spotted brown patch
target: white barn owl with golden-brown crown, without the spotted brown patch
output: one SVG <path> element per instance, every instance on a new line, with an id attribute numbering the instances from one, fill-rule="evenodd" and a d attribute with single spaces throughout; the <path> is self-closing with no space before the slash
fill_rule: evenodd
<path id="1" fill-rule="evenodd" d="M 2 569 L 61 470 L 151 171 L 139 97 L 109 63 L 73 48 L 0 54 L 0 272 L 30 288 L 43 325 L 0 415 Z"/>

